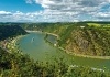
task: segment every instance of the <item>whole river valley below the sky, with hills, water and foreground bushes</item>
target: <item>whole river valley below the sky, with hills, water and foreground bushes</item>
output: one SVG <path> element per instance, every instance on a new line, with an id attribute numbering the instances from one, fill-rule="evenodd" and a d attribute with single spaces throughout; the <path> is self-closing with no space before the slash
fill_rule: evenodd
<path id="1" fill-rule="evenodd" d="M 109 24 L 6 23 L 0 26 L 3 33 L 9 33 L 8 36 L 0 32 L 1 77 L 110 77 Z M 11 30 L 6 30 L 9 26 Z M 16 34 L 11 32 L 14 30 Z"/>

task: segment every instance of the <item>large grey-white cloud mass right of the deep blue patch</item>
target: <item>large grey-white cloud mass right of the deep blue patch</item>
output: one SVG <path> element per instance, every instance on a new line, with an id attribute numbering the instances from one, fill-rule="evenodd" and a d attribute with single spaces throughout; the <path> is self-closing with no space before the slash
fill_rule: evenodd
<path id="1" fill-rule="evenodd" d="M 53 21 L 85 21 L 105 20 L 109 13 L 100 13 L 102 7 L 110 0 L 33 0 L 44 8 L 43 20 Z M 41 14 L 40 14 L 41 15 Z M 85 15 L 85 16 L 82 16 Z M 89 15 L 86 16 L 86 15 Z"/>

